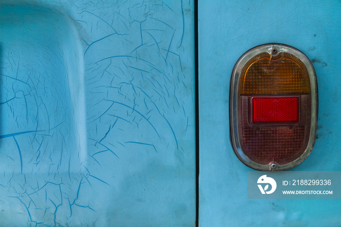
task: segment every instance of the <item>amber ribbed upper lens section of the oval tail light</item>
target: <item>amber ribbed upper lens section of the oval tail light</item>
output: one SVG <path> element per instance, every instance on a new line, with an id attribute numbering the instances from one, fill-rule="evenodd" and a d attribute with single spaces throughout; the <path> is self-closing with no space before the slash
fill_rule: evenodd
<path id="1" fill-rule="evenodd" d="M 310 94 L 310 81 L 302 61 L 286 53 L 251 58 L 243 67 L 240 94 Z"/>

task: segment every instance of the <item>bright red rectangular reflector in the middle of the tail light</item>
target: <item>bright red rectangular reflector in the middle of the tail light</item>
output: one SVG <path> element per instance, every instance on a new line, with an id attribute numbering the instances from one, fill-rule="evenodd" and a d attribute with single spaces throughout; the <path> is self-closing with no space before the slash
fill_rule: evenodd
<path id="1" fill-rule="evenodd" d="M 299 97 L 253 97 L 251 123 L 284 124 L 299 122 Z"/>

